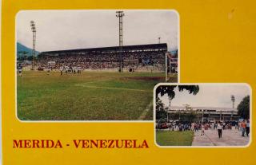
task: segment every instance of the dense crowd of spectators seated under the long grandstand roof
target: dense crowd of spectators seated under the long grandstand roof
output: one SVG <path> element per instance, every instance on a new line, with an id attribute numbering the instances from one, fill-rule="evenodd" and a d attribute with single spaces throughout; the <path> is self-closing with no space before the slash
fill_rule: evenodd
<path id="1" fill-rule="evenodd" d="M 62 53 L 45 54 L 38 57 L 38 68 L 59 69 L 60 67 L 81 67 L 82 69 L 118 69 L 120 53 Z M 54 65 L 49 65 L 54 61 Z M 122 66 L 124 69 L 163 70 L 165 51 L 124 52 Z"/>

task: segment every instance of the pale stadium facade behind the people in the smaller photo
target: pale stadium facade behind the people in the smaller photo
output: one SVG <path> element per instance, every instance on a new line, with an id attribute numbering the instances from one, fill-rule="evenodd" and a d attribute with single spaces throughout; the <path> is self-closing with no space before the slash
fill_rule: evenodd
<path id="1" fill-rule="evenodd" d="M 167 113 L 169 120 L 179 120 L 181 114 L 193 112 L 195 121 L 238 121 L 237 108 L 214 108 L 214 107 L 182 107 L 171 106 Z"/>

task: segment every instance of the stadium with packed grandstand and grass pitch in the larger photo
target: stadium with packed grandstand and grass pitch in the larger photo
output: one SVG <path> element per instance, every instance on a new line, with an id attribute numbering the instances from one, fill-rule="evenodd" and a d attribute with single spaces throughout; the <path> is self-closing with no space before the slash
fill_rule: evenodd
<path id="1" fill-rule="evenodd" d="M 178 50 L 170 52 L 160 39 L 122 45 L 120 30 L 119 22 L 118 46 L 42 51 L 29 62 L 18 58 L 18 119 L 153 120 L 154 85 L 178 81 Z"/>

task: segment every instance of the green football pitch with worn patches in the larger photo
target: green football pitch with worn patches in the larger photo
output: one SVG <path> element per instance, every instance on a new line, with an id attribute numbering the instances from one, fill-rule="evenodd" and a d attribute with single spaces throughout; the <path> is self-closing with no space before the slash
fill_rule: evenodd
<path id="1" fill-rule="evenodd" d="M 60 73 L 17 76 L 20 120 L 153 120 L 153 88 L 164 73 Z M 177 76 L 171 77 L 177 82 Z"/>

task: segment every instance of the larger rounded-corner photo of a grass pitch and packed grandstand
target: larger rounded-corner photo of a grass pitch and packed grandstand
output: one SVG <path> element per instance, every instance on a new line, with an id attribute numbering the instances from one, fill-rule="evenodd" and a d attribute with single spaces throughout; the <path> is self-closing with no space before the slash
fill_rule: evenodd
<path id="1" fill-rule="evenodd" d="M 153 120 L 153 89 L 178 82 L 174 10 L 22 10 L 19 120 Z"/>

